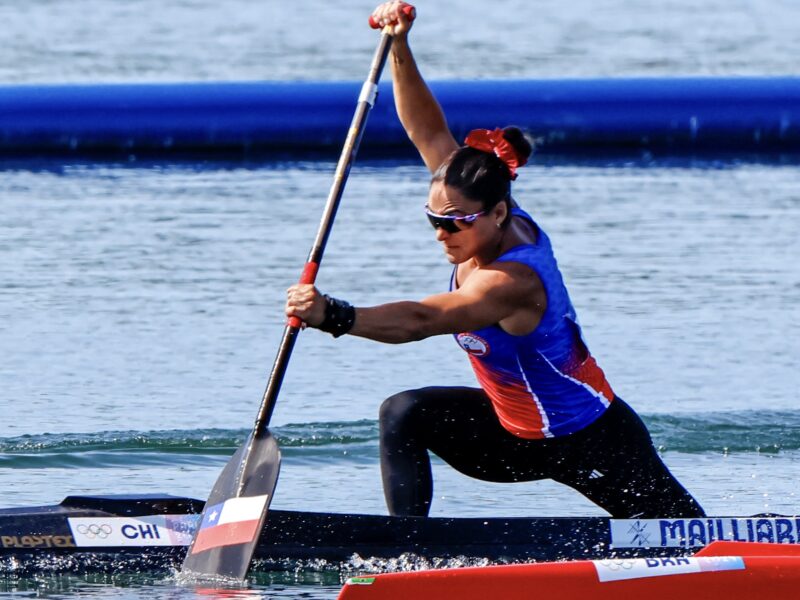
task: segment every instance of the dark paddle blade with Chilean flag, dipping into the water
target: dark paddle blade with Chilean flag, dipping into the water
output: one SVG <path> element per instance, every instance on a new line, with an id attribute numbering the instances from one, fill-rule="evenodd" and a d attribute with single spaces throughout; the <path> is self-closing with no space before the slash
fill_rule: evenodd
<path id="1" fill-rule="evenodd" d="M 251 434 L 236 451 L 203 508 L 181 568 L 186 576 L 244 581 L 267 520 L 280 464 L 278 443 L 269 430 Z"/>

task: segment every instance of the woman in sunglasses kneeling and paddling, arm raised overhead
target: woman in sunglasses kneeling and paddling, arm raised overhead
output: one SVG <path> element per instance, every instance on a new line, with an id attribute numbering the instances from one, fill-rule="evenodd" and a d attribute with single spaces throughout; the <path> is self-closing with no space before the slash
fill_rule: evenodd
<path id="1" fill-rule="evenodd" d="M 396 108 L 433 173 L 426 213 L 455 265 L 450 290 L 354 308 L 297 284 L 286 303 L 288 316 L 337 337 L 399 344 L 450 334 L 472 363 L 480 388 L 409 390 L 381 406 L 389 512 L 428 514 L 433 452 L 484 481 L 553 479 L 616 518 L 703 515 L 589 353 L 550 239 L 511 196 L 531 145 L 514 127 L 456 143 L 417 70 L 403 6 L 387 2 L 372 17 L 393 27 Z"/>

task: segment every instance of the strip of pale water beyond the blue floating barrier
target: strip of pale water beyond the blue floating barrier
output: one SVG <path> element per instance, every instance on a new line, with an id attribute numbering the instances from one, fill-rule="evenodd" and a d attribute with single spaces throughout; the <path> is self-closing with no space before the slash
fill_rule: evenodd
<path id="1" fill-rule="evenodd" d="M 376 2 L 0 1 L 0 81 L 354 79 Z M 429 77 L 797 73 L 794 0 L 417 3 Z"/>

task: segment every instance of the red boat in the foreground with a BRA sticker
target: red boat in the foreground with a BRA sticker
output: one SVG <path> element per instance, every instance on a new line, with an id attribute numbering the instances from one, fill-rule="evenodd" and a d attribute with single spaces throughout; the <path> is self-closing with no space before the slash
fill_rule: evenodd
<path id="1" fill-rule="evenodd" d="M 800 598 L 800 548 L 713 542 L 694 556 L 467 567 L 354 577 L 339 600 L 789 600 Z"/>

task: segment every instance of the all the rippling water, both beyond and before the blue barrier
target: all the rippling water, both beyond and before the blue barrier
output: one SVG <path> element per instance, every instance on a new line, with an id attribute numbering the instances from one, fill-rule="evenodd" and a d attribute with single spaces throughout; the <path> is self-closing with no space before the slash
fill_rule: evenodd
<path id="1" fill-rule="evenodd" d="M 0 2 L 0 77 L 361 79 L 375 43 L 363 25 L 371 6 Z M 789 24 L 800 7 L 788 1 L 492 7 L 419 7 L 415 50 L 427 75 L 796 72 Z M 0 504 L 110 491 L 206 497 L 252 424 L 284 290 L 332 174 L 329 163 L 6 162 Z M 794 164 L 646 158 L 540 161 L 515 184 L 554 241 L 612 385 L 710 513 L 797 512 L 798 184 Z M 426 187 L 415 162 L 359 163 L 319 286 L 361 305 L 443 289 L 449 267 L 421 213 Z M 304 332 L 273 417 L 284 455 L 273 506 L 383 513 L 380 401 L 473 381 L 450 339 L 382 346 Z M 434 515 L 603 514 L 555 483 L 492 485 L 434 468 Z M 330 599 L 340 576 L 259 574 L 242 593 Z M 124 573 L 5 575 L 0 593 L 202 594 Z"/>

